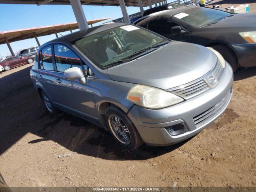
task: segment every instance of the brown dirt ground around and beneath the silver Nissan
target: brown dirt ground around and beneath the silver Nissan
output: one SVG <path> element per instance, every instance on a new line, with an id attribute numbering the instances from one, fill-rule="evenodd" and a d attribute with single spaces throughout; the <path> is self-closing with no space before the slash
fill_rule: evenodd
<path id="1" fill-rule="evenodd" d="M 9 186 L 256 186 L 256 68 L 236 72 L 228 109 L 198 135 L 129 152 L 85 120 L 50 116 L 30 66 L 0 74 L 0 172 Z"/>

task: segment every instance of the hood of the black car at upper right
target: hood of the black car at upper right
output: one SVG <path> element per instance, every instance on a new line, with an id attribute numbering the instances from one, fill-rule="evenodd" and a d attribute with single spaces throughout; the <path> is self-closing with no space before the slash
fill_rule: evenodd
<path id="1" fill-rule="evenodd" d="M 256 29 L 256 14 L 255 13 L 240 13 L 235 14 L 232 17 L 228 17 L 220 20 L 218 23 L 210 25 L 205 28 L 237 28 L 240 30 L 241 28 L 244 30 L 246 28 L 254 28 Z M 240 32 L 240 31 L 239 31 Z"/>

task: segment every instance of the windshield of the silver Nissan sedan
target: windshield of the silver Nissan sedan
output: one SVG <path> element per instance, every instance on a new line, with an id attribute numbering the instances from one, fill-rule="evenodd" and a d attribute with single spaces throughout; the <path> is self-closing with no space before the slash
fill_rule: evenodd
<path id="1" fill-rule="evenodd" d="M 114 62 L 139 53 L 140 50 L 166 41 L 153 32 L 126 25 L 86 36 L 74 44 L 94 64 L 106 68 Z"/>

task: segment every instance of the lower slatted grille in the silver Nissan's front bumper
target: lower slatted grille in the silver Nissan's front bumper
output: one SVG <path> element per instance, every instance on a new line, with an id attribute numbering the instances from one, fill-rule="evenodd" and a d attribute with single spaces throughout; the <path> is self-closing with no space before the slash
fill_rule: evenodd
<path id="1" fill-rule="evenodd" d="M 228 95 L 226 97 L 224 97 L 218 104 L 214 105 L 207 111 L 205 111 L 193 118 L 196 128 L 198 128 L 198 127 L 202 126 L 203 124 L 206 124 L 207 122 L 212 120 L 212 118 L 214 118 L 218 114 L 218 112 L 220 112 L 226 106 L 226 103 L 230 99 L 231 92 L 232 92 L 232 90 L 230 90 L 230 93 L 228 93 Z"/>

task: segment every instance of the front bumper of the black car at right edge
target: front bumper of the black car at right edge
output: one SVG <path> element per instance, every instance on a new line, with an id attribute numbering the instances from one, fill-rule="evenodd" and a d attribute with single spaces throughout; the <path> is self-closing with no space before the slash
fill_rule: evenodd
<path id="1" fill-rule="evenodd" d="M 256 66 L 256 43 L 235 44 L 231 46 L 236 53 L 240 67 Z"/>

